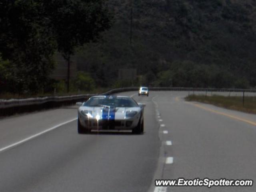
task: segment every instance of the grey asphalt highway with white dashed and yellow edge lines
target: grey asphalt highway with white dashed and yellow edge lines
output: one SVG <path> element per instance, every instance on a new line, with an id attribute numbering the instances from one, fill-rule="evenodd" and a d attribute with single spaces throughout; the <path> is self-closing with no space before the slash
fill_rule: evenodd
<path id="1" fill-rule="evenodd" d="M 255 192 L 161 187 L 154 179 L 256 180 L 256 116 L 185 102 L 187 92 L 133 96 L 144 134 L 77 134 L 76 107 L 0 120 L 0 192 Z"/>

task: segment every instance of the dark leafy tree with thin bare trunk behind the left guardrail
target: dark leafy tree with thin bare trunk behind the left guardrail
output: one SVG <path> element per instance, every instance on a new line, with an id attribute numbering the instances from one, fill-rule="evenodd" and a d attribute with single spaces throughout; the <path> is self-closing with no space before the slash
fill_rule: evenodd
<path id="1" fill-rule="evenodd" d="M 75 48 L 95 41 L 110 28 L 112 15 L 103 0 L 52 0 L 47 4 L 58 51 L 67 61 L 67 92 L 70 84 L 70 56 Z"/>

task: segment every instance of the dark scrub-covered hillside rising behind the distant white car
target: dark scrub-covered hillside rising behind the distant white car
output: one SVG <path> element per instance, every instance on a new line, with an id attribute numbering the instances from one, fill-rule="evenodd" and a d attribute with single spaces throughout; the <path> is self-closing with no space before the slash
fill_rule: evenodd
<path id="1" fill-rule="evenodd" d="M 138 84 L 256 86 L 256 1 L 133 0 L 132 44 L 130 0 L 108 6 L 112 28 L 80 50 L 79 70 L 101 86 L 131 83 L 116 82 L 118 68 L 136 68 Z"/>

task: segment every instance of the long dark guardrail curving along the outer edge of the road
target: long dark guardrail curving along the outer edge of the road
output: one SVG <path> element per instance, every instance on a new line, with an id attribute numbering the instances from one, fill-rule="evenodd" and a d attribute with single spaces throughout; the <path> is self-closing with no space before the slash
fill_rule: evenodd
<path id="1" fill-rule="evenodd" d="M 100 95 L 110 95 L 118 92 L 136 91 L 138 87 L 118 88 Z M 149 90 L 170 91 L 207 91 L 207 92 L 256 92 L 255 89 L 218 89 L 218 88 L 182 88 L 182 87 L 151 87 Z M 32 112 L 48 108 L 71 105 L 85 101 L 91 96 L 99 94 L 82 94 L 73 96 L 51 96 L 42 98 L 0 100 L 0 116 L 9 116 L 17 113 Z"/>

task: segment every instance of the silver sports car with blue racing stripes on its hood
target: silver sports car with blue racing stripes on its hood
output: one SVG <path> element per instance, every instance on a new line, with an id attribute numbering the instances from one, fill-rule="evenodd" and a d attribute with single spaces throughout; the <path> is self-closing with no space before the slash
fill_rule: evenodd
<path id="1" fill-rule="evenodd" d="M 78 133 L 91 130 L 132 130 L 141 134 L 144 130 L 145 104 L 127 96 L 93 96 L 78 108 Z"/>

